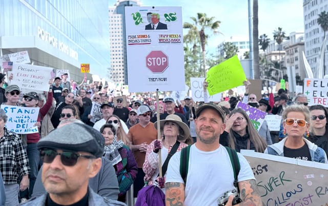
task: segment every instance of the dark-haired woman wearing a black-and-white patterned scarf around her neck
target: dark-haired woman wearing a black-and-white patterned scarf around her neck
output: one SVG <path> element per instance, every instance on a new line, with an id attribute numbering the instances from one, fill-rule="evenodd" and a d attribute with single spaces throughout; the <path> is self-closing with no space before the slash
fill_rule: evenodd
<path id="1" fill-rule="evenodd" d="M 116 138 L 116 130 L 113 124 L 106 123 L 100 128 L 100 133 L 105 138 L 104 156 L 112 163 L 117 175 L 119 187 L 117 200 L 125 202 L 126 193 L 130 190 L 137 176 L 137 163 L 130 148 Z"/>

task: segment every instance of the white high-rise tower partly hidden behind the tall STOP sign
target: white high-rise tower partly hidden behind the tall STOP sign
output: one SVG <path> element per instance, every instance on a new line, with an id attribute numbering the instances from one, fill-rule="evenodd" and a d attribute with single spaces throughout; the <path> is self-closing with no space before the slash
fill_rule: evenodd
<path id="1" fill-rule="evenodd" d="M 117 0 L 109 7 L 109 30 L 111 47 L 111 80 L 128 84 L 127 48 L 125 39 L 125 7 L 140 6 L 139 0 Z"/>

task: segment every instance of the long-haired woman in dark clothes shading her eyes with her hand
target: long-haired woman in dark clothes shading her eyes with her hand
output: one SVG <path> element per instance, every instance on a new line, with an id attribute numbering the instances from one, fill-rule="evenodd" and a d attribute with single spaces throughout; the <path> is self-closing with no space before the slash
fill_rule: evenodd
<path id="1" fill-rule="evenodd" d="M 267 148 L 267 142 L 258 134 L 250 117 L 241 108 L 236 108 L 230 113 L 226 131 L 229 131 L 228 147 L 237 152 L 255 150 L 263 153 Z"/>

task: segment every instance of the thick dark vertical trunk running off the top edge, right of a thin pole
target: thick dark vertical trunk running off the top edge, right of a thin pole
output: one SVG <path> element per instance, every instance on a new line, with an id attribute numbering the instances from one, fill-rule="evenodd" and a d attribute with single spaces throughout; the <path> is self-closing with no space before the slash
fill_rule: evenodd
<path id="1" fill-rule="evenodd" d="M 260 78 L 260 65 L 258 54 L 258 2 L 253 0 L 253 67 L 254 79 Z"/>

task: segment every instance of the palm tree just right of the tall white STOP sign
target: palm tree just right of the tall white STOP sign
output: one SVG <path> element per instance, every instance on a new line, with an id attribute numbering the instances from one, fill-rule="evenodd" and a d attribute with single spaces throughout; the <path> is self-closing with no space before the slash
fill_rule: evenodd
<path id="1" fill-rule="evenodd" d="M 207 17 L 206 13 L 197 13 L 197 18 L 190 17 L 193 20 L 193 24 L 188 22 L 183 23 L 183 28 L 192 30 L 192 33 L 197 31 L 198 38 L 200 39 L 202 56 L 203 56 L 203 70 L 204 77 L 206 77 L 206 50 L 205 46 L 207 44 L 208 35 L 205 34 L 205 29 L 211 29 L 214 34 L 218 33 L 218 28 L 220 26 L 220 21 L 214 21 L 214 16 Z"/>

